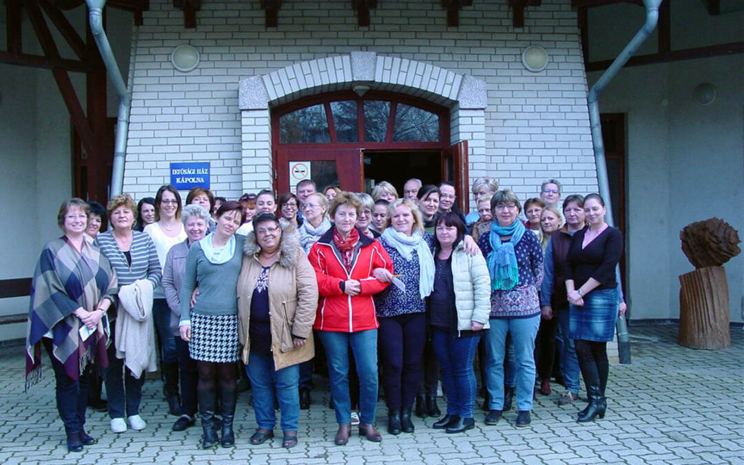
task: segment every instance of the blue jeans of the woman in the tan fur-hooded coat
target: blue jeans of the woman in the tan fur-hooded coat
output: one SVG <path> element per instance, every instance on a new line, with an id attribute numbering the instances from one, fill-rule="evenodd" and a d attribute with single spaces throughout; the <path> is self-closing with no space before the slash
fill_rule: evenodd
<path id="1" fill-rule="evenodd" d="M 246 365 L 253 391 L 253 411 L 260 429 L 274 429 L 277 423 L 274 396 L 279 402 L 281 430 L 297 431 L 300 419 L 299 365 L 276 370 L 274 356 L 252 350 Z"/>

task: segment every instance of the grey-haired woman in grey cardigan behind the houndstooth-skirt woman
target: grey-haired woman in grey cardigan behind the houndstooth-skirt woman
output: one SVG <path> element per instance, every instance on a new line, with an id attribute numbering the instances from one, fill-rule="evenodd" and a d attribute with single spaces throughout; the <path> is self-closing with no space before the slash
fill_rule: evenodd
<path id="1" fill-rule="evenodd" d="M 195 423 L 196 415 L 196 362 L 188 352 L 188 343 L 179 335 L 181 319 L 181 288 L 186 274 L 186 258 L 193 243 L 204 239 L 211 217 L 201 205 L 186 205 L 181 221 L 187 238 L 170 248 L 163 267 L 163 293 L 170 308 L 170 330 L 176 336 L 176 351 L 179 357 L 179 379 L 181 380 L 181 415 L 173 423 L 173 431 L 183 431 Z"/>

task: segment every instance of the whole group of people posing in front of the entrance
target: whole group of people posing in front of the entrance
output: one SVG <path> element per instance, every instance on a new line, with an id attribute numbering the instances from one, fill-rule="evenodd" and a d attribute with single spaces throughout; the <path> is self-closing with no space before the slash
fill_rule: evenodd
<path id="1" fill-rule="evenodd" d="M 559 404 L 578 399 L 580 371 L 589 405 L 577 420 L 603 417 L 606 342 L 624 312 L 615 278 L 623 238 L 606 224 L 603 199 L 571 195 L 559 211 L 551 179 L 523 205 L 478 178 L 476 211 L 465 216 L 448 182 L 410 179 L 403 193 L 388 182 L 371 194 L 321 193 L 306 180 L 278 199 L 261 190 L 230 201 L 195 187 L 184 205 L 164 185 L 138 204 L 126 194 L 105 209 L 63 202 L 63 235 L 33 277 L 27 387 L 41 375 L 43 346 L 74 452 L 95 442 L 85 412 L 100 379 L 112 432 L 147 427 L 142 385 L 158 359 L 173 430 L 198 413 L 204 449 L 234 446 L 237 367 L 253 397 L 249 442 L 274 437 L 278 406 L 282 446 L 296 446 L 310 363 L 321 356 L 339 445 L 352 426 L 382 440 L 379 385 L 389 434 L 414 432 L 414 408 L 441 415 L 440 381 L 446 414 L 433 428 L 472 429 L 476 356 L 487 425 L 514 397 L 516 425 L 529 425 L 536 379 L 550 394 L 554 365 L 566 388 Z"/>

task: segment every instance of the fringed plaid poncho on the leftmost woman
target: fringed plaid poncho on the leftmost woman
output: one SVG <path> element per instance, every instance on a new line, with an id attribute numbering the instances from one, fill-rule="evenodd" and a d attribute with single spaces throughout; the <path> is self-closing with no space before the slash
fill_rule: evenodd
<path id="1" fill-rule="evenodd" d="M 77 380 L 92 359 L 108 365 L 108 338 L 103 324 L 86 341 L 80 338 L 82 307 L 92 312 L 116 292 L 116 275 L 99 248 L 83 241 L 80 252 L 66 237 L 44 246 L 31 283 L 31 306 L 26 333 L 26 388 L 41 378 L 41 342 L 51 333 L 53 354 L 71 379 Z M 113 300 L 113 299 L 112 299 Z"/>

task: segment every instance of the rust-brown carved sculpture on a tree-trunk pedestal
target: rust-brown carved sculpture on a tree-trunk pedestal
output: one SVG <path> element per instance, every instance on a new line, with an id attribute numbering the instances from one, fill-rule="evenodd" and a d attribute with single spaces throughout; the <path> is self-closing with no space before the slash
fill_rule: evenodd
<path id="1" fill-rule="evenodd" d="M 728 283 L 723 264 L 741 253 L 739 233 L 718 218 L 693 222 L 679 233 L 695 271 L 679 277 L 679 344 L 695 349 L 731 347 Z"/>

